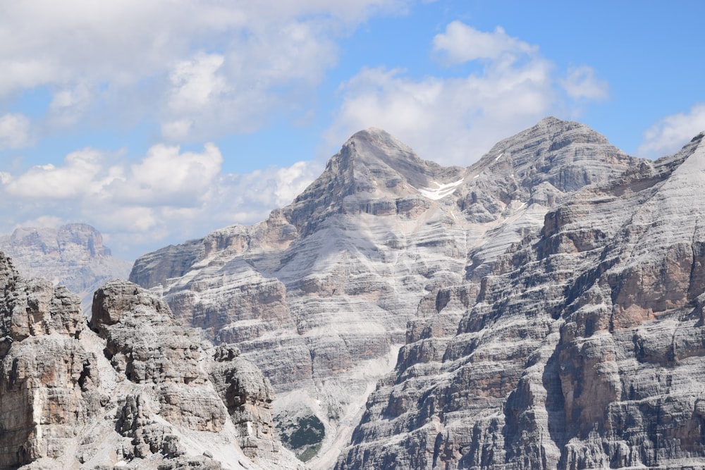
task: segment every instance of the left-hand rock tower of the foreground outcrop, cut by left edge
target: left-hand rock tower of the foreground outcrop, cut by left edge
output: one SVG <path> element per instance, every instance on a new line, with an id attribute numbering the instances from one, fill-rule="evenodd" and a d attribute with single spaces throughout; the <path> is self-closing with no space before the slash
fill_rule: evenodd
<path id="1" fill-rule="evenodd" d="M 78 297 L 19 278 L 0 253 L 0 467 L 58 457 L 74 430 L 99 414 L 97 357 Z"/>

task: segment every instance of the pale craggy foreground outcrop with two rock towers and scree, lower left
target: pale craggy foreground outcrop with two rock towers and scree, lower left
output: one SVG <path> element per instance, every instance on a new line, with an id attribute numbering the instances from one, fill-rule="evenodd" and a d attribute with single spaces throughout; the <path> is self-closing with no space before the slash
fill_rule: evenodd
<path id="1" fill-rule="evenodd" d="M 231 345 L 113 281 L 87 323 L 76 295 L 0 253 L 0 468 L 298 468 L 269 382 Z"/>

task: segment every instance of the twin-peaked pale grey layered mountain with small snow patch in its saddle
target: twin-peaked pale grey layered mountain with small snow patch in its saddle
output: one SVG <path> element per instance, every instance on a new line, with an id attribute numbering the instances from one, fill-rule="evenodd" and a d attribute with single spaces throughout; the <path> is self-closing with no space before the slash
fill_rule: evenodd
<path id="1" fill-rule="evenodd" d="M 130 279 L 216 342 L 237 344 L 281 397 L 278 416 L 317 416 L 326 440 L 311 463 L 329 466 L 326 446 L 345 440 L 396 348 L 425 338 L 400 360 L 442 359 L 479 281 L 507 263 L 500 256 L 576 190 L 639 162 L 555 118 L 469 168 L 424 161 L 370 129 L 266 221 L 147 254 Z"/>

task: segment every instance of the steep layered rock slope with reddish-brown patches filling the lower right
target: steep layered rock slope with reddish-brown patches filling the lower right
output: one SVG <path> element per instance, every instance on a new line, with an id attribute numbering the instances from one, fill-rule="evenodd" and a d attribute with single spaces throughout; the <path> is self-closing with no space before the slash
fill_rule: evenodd
<path id="1" fill-rule="evenodd" d="M 419 304 L 336 468 L 705 466 L 703 137 Z"/>

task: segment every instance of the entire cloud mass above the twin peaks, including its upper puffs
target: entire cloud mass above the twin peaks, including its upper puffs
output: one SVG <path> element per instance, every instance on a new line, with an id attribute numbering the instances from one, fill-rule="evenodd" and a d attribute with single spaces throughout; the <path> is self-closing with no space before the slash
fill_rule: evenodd
<path id="1" fill-rule="evenodd" d="M 556 78 L 556 66 L 501 28 L 482 32 L 458 21 L 436 35 L 448 65 L 479 61 L 469 75 L 409 78 L 404 70 L 364 68 L 343 83 L 329 146 L 370 126 L 391 132 L 424 159 L 467 166 L 493 144 L 561 109 L 603 99 L 606 83 L 591 68 Z M 570 104 L 570 106 L 567 106 Z"/>

